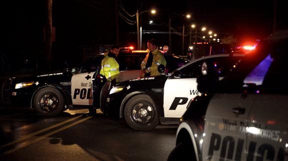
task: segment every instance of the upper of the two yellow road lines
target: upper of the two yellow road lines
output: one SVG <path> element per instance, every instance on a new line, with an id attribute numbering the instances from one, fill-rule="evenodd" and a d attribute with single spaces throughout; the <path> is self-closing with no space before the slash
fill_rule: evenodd
<path id="1" fill-rule="evenodd" d="M 28 138 L 34 137 L 35 135 L 38 135 L 38 134 L 41 134 L 41 133 L 46 132 L 46 131 L 48 131 L 48 130 L 51 130 L 51 129 L 53 129 L 53 128 L 59 127 L 59 126 L 61 126 L 61 125 L 64 125 L 64 124 L 66 124 L 66 123 L 69 123 L 69 122 L 71 122 L 71 121 L 73 121 L 73 120 L 79 119 L 80 117 L 82 117 L 82 115 L 79 115 L 79 116 L 77 116 L 77 117 L 74 117 L 74 118 L 71 118 L 71 119 L 69 119 L 69 120 L 63 121 L 63 122 L 61 122 L 61 123 L 55 124 L 55 125 L 53 125 L 53 126 L 51 126 L 51 127 L 48 127 L 48 128 L 42 129 L 42 130 L 39 130 L 39 131 L 37 131 L 37 132 L 31 133 L 31 134 L 26 135 L 26 136 L 24 136 L 24 137 L 22 137 L 22 138 L 20 138 L 20 139 L 18 139 L 18 140 L 15 140 L 15 141 L 13 141 L 13 142 L 10 142 L 10 143 L 7 143 L 7 144 L 1 146 L 0 149 L 3 149 L 3 148 L 8 147 L 8 146 L 11 146 L 11 145 L 13 145 L 13 144 L 15 144 L 15 143 L 21 142 L 21 141 L 26 140 L 26 139 L 28 139 Z"/>

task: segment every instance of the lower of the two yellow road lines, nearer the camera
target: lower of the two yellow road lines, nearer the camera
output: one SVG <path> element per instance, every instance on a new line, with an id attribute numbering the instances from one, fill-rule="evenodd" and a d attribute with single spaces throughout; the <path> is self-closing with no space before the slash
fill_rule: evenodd
<path id="1" fill-rule="evenodd" d="M 33 144 L 33 143 L 36 143 L 36 142 L 38 142 L 38 141 L 41 141 L 41 140 L 43 140 L 43 139 L 45 139 L 45 138 L 47 138 L 47 137 L 49 137 L 49 136 L 51 136 L 51 135 L 53 135 L 53 134 L 56 134 L 56 133 L 61 132 L 61 131 L 65 130 L 65 129 L 71 128 L 71 127 L 73 127 L 73 126 L 75 126 L 75 125 L 77 125 L 77 124 L 80 124 L 80 123 L 82 123 L 82 122 L 84 122 L 84 121 L 86 121 L 86 120 L 88 120 L 88 119 L 90 119 L 90 118 L 92 118 L 92 116 L 87 117 L 87 118 L 84 118 L 84 119 L 81 119 L 81 120 L 79 120 L 79 121 L 77 121 L 77 122 L 74 122 L 74 123 L 72 123 L 72 124 L 69 124 L 69 125 L 67 125 L 67 126 L 65 126 L 65 127 L 62 127 L 62 128 L 57 129 L 57 130 L 55 130 L 55 131 L 52 131 L 52 132 L 50 132 L 50 133 L 48 133 L 48 134 L 45 134 L 45 135 L 43 135 L 43 136 L 41 136 L 41 137 L 39 137 L 39 138 L 37 138 L 37 139 L 28 141 L 27 143 L 25 143 L 25 144 L 23 144 L 23 145 L 17 146 L 17 147 L 15 147 L 15 148 L 12 149 L 12 150 L 9 150 L 9 151 L 3 153 L 3 156 L 4 156 L 4 155 L 9 155 L 9 154 L 11 154 L 11 153 L 13 153 L 13 152 L 16 152 L 16 151 L 18 151 L 18 150 L 20 150 L 20 149 L 22 149 L 22 148 L 24 148 L 24 147 L 27 147 L 27 146 Z"/>

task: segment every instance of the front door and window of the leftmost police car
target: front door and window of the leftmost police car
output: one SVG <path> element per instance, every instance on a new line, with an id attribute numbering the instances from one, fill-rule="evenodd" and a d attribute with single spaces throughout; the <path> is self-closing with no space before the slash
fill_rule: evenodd
<path id="1" fill-rule="evenodd" d="M 96 71 L 101 66 L 103 55 L 91 58 L 83 63 L 80 73 L 74 74 L 71 79 L 71 96 L 73 105 L 93 104 L 93 80 Z"/>

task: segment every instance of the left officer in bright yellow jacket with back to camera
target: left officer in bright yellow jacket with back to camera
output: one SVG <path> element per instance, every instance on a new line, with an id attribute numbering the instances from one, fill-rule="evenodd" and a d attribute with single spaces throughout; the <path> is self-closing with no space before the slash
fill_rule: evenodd
<path id="1" fill-rule="evenodd" d="M 104 57 L 101 62 L 100 76 L 101 78 L 107 79 L 107 81 L 112 81 L 115 79 L 116 82 L 119 82 L 119 64 L 116 61 L 116 56 L 119 54 L 119 47 L 114 45 L 111 47 L 111 50 L 108 52 L 108 55 Z"/>

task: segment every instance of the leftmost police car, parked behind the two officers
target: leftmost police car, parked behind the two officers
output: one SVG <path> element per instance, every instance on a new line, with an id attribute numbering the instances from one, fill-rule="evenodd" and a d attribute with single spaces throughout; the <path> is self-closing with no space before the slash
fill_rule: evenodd
<path id="1" fill-rule="evenodd" d="M 117 57 L 120 81 L 141 76 L 140 64 L 147 51 L 121 48 Z M 5 102 L 30 104 L 43 116 L 55 116 L 70 109 L 99 108 L 101 85 L 97 77 L 104 54 L 99 54 L 73 71 L 60 70 L 36 75 L 17 76 L 2 85 Z M 187 60 L 169 56 L 170 70 L 188 63 Z M 176 65 L 176 66 L 174 66 Z M 10 100 L 7 99 L 9 95 Z M 4 100 L 4 99 L 3 99 Z"/>

